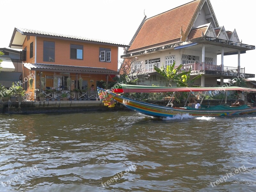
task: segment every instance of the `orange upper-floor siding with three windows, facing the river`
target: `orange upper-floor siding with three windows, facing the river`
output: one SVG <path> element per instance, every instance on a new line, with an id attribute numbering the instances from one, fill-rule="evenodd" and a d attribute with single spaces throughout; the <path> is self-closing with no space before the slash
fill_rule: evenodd
<path id="1" fill-rule="evenodd" d="M 70 40 L 61 40 L 54 38 L 37 37 L 36 62 L 54 65 L 72 65 L 81 67 L 107 68 L 117 71 L 118 47 L 76 42 Z M 44 41 L 55 42 L 55 62 L 43 61 L 43 43 Z M 70 59 L 70 44 L 83 45 L 83 60 Z M 111 62 L 99 61 L 99 48 L 111 49 Z"/>

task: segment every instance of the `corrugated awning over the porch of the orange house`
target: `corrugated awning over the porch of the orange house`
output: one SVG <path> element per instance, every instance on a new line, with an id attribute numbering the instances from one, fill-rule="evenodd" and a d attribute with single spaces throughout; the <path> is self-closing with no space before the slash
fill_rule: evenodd
<path id="1" fill-rule="evenodd" d="M 70 66 L 70 65 L 52 65 L 52 64 L 41 64 L 41 63 L 23 63 L 23 64 L 24 64 L 24 67 L 32 71 L 119 75 L 119 72 L 110 70 L 107 68 L 80 67 L 80 66 Z"/>

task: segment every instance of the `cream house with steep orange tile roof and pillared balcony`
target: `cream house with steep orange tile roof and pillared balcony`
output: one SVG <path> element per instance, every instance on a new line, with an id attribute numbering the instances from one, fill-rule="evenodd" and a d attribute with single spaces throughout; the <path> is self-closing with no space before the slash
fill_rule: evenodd
<path id="1" fill-rule="evenodd" d="M 210 0 L 195 0 L 149 19 L 145 16 L 121 58 L 135 60 L 130 69 L 133 75 L 136 70 L 149 74 L 139 79 L 144 85 L 165 86 L 154 65 L 166 68 L 174 61 L 177 66 L 183 64 L 183 71 L 191 68 L 191 78 L 203 74 L 194 84 L 205 87 L 215 86 L 218 79 L 223 84 L 224 79 L 237 76 L 255 77 L 240 67 L 240 54 L 255 46 L 242 43 L 236 29 L 229 30 L 219 26 Z M 225 65 L 226 55 L 237 55 L 237 63 Z"/>

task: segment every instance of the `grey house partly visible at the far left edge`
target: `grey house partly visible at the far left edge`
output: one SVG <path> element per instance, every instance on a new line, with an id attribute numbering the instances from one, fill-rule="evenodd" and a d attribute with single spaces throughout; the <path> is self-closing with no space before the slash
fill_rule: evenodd
<path id="1" fill-rule="evenodd" d="M 0 56 L 0 59 L 3 60 L 0 68 L 0 84 L 9 88 L 12 83 L 19 82 L 22 78 L 20 52 L 7 48 L 0 48 L 0 51 L 4 53 L 3 56 Z"/>

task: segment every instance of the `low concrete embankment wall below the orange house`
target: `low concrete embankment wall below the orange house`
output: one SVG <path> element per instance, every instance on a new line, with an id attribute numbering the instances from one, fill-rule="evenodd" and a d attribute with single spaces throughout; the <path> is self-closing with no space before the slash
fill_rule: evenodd
<path id="1" fill-rule="evenodd" d="M 102 101 L 26 101 L 0 102 L 0 113 L 49 113 L 49 112 L 79 112 L 79 111 L 113 111 L 125 109 L 119 103 L 114 108 L 104 106 Z"/>

